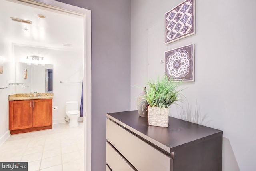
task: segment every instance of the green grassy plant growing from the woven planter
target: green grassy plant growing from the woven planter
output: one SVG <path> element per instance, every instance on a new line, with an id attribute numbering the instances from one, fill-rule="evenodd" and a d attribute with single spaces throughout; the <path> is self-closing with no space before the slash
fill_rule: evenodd
<path id="1" fill-rule="evenodd" d="M 164 75 L 156 80 L 146 82 L 147 87 L 144 99 L 152 107 L 168 108 L 172 103 L 180 101 L 180 85 L 182 81 L 174 81 L 172 77 Z"/>

